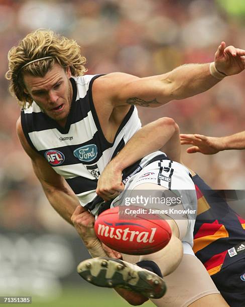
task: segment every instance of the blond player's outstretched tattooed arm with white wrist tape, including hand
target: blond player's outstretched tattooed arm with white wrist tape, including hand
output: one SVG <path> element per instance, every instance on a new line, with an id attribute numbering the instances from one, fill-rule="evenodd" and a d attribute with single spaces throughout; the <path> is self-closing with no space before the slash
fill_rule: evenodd
<path id="1" fill-rule="evenodd" d="M 98 78 L 94 92 L 106 90 L 104 100 L 114 106 L 138 105 L 158 107 L 174 99 L 184 99 L 202 93 L 223 77 L 244 69 L 245 50 L 222 42 L 213 63 L 182 65 L 163 75 L 138 78 L 123 73 L 111 73 Z M 98 95 L 97 93 L 95 94 Z"/>

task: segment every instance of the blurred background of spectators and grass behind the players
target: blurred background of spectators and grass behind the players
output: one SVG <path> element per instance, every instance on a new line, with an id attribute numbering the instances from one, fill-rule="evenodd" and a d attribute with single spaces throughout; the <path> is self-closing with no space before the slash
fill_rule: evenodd
<path id="1" fill-rule="evenodd" d="M 75 273 L 89 255 L 48 204 L 16 136 L 20 108 L 4 77 L 9 49 L 27 33 L 50 28 L 77 40 L 88 74 L 145 77 L 211 62 L 221 41 L 245 49 L 244 17 L 243 0 L 0 0 L 0 295 L 33 295 L 37 306 L 128 305 Z M 147 112 L 138 108 L 142 123 L 170 116 L 183 133 L 245 130 L 243 82 L 244 72 L 195 97 Z M 244 189 L 244 151 L 203 156 L 182 149 L 185 164 L 212 188 Z"/>

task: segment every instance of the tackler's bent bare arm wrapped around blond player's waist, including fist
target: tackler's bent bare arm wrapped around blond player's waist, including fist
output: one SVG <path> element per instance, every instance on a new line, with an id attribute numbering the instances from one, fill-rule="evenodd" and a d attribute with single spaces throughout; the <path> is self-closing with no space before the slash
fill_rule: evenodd
<path id="1" fill-rule="evenodd" d="M 180 162 L 179 127 L 172 118 L 159 118 L 137 131 L 104 169 L 96 193 L 104 200 L 115 198 L 124 190 L 122 171 L 156 150 L 164 150 L 171 160 Z"/>

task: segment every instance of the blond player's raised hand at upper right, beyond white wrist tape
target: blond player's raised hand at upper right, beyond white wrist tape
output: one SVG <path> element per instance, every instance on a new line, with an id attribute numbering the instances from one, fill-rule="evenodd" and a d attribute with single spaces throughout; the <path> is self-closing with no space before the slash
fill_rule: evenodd
<path id="1" fill-rule="evenodd" d="M 234 46 L 225 48 L 225 42 L 221 42 L 215 53 L 214 62 L 216 69 L 226 76 L 238 74 L 245 68 L 245 50 Z"/>

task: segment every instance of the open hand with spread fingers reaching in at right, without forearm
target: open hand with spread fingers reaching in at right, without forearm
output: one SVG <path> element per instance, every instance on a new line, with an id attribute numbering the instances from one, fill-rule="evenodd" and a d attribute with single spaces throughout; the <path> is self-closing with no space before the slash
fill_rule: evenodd
<path id="1" fill-rule="evenodd" d="M 222 137 L 205 136 L 201 134 L 180 134 L 182 145 L 192 145 L 186 149 L 188 154 L 201 152 L 204 155 L 213 155 L 225 149 Z"/>

